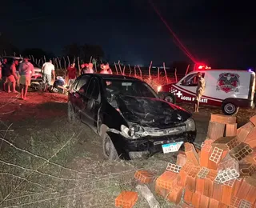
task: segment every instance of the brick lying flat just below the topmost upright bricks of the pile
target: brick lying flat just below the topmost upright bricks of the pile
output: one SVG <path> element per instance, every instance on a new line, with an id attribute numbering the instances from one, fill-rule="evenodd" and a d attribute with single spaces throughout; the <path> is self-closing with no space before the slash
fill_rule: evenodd
<path id="1" fill-rule="evenodd" d="M 238 146 L 241 142 L 238 141 L 238 138 L 233 136 L 233 137 L 222 137 L 216 139 L 213 143 L 212 146 L 218 147 L 222 150 L 231 150 L 235 146 Z"/>

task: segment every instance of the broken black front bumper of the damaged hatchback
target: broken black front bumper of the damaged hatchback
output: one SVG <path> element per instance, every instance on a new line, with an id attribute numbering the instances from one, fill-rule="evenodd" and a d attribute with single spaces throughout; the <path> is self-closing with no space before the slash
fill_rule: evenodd
<path id="1" fill-rule="evenodd" d="M 174 142 L 194 142 L 196 131 L 186 132 L 176 135 L 166 135 L 162 137 L 145 137 L 140 139 L 129 139 L 121 134 L 108 133 L 114 142 L 114 146 L 119 155 L 132 159 L 131 155 L 143 156 L 163 153 L 162 145 Z"/>

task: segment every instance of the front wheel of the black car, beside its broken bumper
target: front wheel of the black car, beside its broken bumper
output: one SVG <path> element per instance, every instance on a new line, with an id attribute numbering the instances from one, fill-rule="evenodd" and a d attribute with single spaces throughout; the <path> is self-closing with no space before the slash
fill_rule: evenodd
<path id="1" fill-rule="evenodd" d="M 103 156 L 107 160 L 118 160 L 118 152 L 108 134 L 103 138 Z"/>

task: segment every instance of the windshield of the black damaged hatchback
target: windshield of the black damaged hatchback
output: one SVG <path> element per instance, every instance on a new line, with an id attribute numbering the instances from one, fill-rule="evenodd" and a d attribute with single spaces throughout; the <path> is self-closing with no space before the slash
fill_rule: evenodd
<path id="1" fill-rule="evenodd" d="M 134 97 L 158 98 L 154 90 L 145 82 L 138 80 L 105 79 L 106 94 Z"/>

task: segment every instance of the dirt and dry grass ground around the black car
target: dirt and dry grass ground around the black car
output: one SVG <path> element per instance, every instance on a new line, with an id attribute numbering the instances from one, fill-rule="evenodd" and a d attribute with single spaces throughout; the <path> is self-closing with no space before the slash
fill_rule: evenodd
<path id="1" fill-rule="evenodd" d="M 177 154 L 155 154 L 146 160 L 109 162 L 102 157 L 102 141 L 85 125 L 66 120 L 66 95 L 0 92 L 0 207 L 114 207 L 122 190 L 134 190 L 138 169 L 161 174 Z M 182 105 L 186 110 L 193 106 Z M 206 139 L 210 113 L 202 106 L 194 114 L 200 146 Z M 255 110 L 240 110 L 238 122 Z M 152 190 L 153 187 L 152 187 Z M 170 203 L 158 198 L 161 207 Z M 135 207 L 149 207 L 139 197 Z"/>

